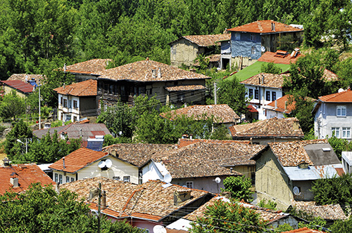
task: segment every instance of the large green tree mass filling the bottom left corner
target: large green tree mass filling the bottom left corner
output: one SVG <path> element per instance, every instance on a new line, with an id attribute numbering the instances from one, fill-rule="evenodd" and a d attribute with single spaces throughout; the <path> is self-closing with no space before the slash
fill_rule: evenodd
<path id="1" fill-rule="evenodd" d="M 77 194 L 52 186 L 32 184 L 24 193 L 6 192 L 0 196 L 1 232 L 96 232 L 97 219 L 89 214 L 89 206 L 77 201 Z M 127 222 L 115 223 L 103 218 L 101 232 L 142 232 Z"/>

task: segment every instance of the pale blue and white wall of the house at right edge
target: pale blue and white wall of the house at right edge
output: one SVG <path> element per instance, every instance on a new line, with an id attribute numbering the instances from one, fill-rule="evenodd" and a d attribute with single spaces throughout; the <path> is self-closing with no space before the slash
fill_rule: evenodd
<path id="1" fill-rule="evenodd" d="M 337 116 L 337 106 L 346 106 L 346 116 Z M 332 128 L 339 128 L 342 138 L 342 128 L 350 128 L 352 137 L 352 103 L 322 103 L 315 112 L 314 133 L 318 138 L 332 137 Z"/>

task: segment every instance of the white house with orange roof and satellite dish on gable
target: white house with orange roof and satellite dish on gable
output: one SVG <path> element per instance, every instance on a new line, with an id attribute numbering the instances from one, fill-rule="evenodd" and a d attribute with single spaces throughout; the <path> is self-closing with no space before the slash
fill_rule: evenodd
<path id="1" fill-rule="evenodd" d="M 106 177 L 138 184 L 138 167 L 106 152 L 80 148 L 49 166 L 60 184 L 94 177 Z"/>

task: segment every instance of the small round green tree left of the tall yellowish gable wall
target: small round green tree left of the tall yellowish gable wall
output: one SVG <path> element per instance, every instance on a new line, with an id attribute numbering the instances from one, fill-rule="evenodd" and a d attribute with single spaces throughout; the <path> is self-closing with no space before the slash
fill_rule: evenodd
<path id="1" fill-rule="evenodd" d="M 244 175 L 230 176 L 224 181 L 225 189 L 221 191 L 227 191 L 231 193 L 231 197 L 241 201 L 242 199 L 246 202 L 251 202 L 253 199 L 251 191 L 252 182 L 250 178 L 246 178 Z"/>

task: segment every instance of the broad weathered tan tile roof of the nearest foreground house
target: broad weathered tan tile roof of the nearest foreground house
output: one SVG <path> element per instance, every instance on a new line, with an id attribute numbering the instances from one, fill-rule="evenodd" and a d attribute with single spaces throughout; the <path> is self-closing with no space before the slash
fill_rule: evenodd
<path id="1" fill-rule="evenodd" d="M 107 208 L 102 213 L 109 213 L 116 218 L 133 216 L 138 218 L 159 221 L 177 209 L 190 204 L 196 199 L 209 195 L 208 192 L 187 189 L 178 185 L 162 187 L 165 182 L 149 180 L 142 185 L 134 185 L 130 182 L 111 180 L 108 178 L 92 178 L 77 180 L 62 185 L 62 188 L 69 189 L 78 194 L 77 199 L 88 199 L 89 189 L 98 187 L 101 182 L 101 189 L 106 191 Z M 180 189 L 191 191 L 191 199 L 183 201 L 178 206 L 174 205 L 174 192 Z M 98 199 L 90 201 L 98 204 Z M 182 214 L 182 213 L 181 213 Z"/>

